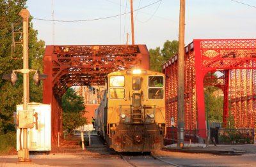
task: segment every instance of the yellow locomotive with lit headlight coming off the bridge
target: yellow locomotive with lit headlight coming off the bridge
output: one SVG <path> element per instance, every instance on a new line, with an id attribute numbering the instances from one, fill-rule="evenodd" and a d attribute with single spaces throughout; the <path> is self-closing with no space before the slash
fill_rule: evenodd
<path id="1" fill-rule="evenodd" d="M 166 134 L 164 74 L 126 69 L 108 74 L 108 89 L 95 111 L 96 127 L 118 152 L 151 152 Z"/>

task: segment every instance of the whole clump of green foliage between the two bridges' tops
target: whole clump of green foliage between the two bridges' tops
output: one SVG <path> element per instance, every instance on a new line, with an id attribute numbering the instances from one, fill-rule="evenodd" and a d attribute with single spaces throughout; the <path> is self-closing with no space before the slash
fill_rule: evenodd
<path id="1" fill-rule="evenodd" d="M 168 61 L 171 57 L 177 54 L 179 49 L 178 41 L 166 41 L 164 47 L 160 50 L 160 47 L 156 49 L 149 49 L 150 55 L 150 69 L 152 71 L 162 72 L 164 62 Z"/>

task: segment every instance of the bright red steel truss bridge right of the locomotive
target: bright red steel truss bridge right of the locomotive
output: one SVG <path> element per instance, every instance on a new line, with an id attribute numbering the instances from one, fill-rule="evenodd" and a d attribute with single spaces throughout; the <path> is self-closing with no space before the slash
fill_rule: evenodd
<path id="1" fill-rule="evenodd" d="M 221 75 L 213 75 L 220 71 Z M 177 126 L 177 55 L 163 65 L 166 74 L 166 122 Z M 224 94 L 223 123 L 228 112 L 236 127 L 256 126 L 256 40 L 193 40 L 184 55 L 185 129 L 205 138 L 204 86 Z M 230 105 L 230 111 L 228 111 Z M 201 130 L 200 130 L 201 129 Z"/>

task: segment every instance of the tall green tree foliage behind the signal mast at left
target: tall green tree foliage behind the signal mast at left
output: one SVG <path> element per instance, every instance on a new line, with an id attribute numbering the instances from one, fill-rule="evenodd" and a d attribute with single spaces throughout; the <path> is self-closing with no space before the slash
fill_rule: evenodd
<path id="1" fill-rule="evenodd" d="M 0 0 L 0 77 L 3 74 L 10 73 L 12 69 L 22 69 L 22 60 L 14 60 L 13 57 L 22 57 L 22 46 L 15 47 L 15 55 L 12 55 L 12 28 L 22 32 L 22 18 L 19 15 L 20 10 L 25 7 L 26 0 L 7 1 Z M 29 19 L 31 20 L 31 18 Z M 29 24 L 29 69 L 40 69 L 42 73 L 44 55 L 44 41 L 38 41 L 37 31 L 33 25 Z M 15 41 L 21 41 L 22 36 L 15 33 Z M 14 87 L 9 81 L 0 79 L 0 134 L 15 131 L 13 124 L 13 112 L 16 111 L 16 105 L 22 103 L 23 81 L 22 74 L 17 74 L 18 81 Z M 33 74 L 29 75 L 33 77 Z M 30 79 L 30 101 L 42 102 L 42 85 L 35 87 Z"/>

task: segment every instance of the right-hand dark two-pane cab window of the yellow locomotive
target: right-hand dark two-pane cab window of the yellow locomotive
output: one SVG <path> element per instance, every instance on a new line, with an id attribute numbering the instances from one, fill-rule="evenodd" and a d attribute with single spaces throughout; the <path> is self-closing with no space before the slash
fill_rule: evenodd
<path id="1" fill-rule="evenodd" d="M 148 99 L 163 99 L 163 76 L 148 76 Z"/>

